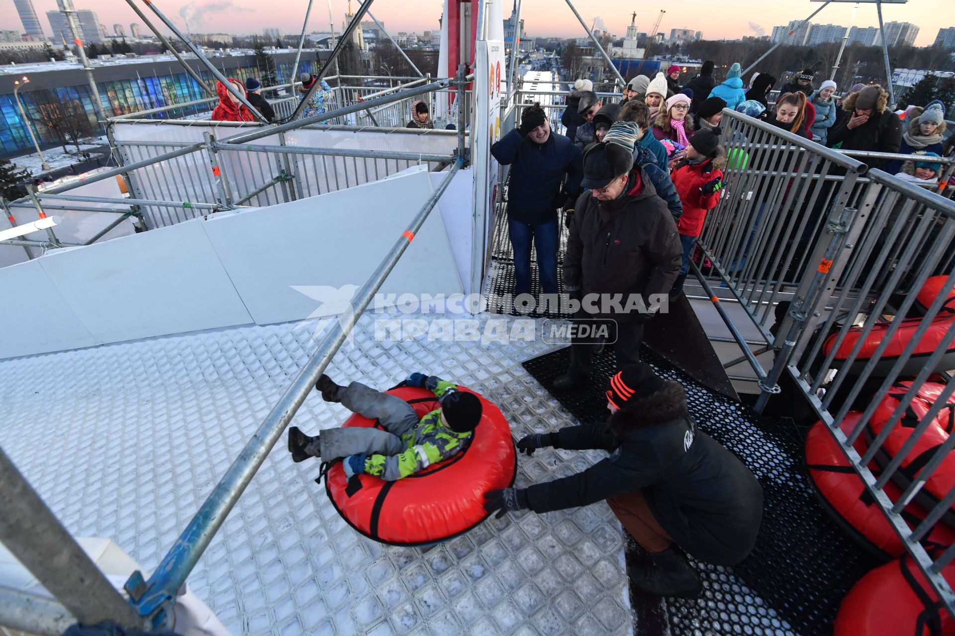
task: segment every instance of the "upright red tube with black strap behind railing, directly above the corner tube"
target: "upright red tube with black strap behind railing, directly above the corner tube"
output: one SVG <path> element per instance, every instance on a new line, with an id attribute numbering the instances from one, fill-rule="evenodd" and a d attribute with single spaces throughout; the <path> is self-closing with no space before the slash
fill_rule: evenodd
<path id="1" fill-rule="evenodd" d="M 852 432 L 861 415 L 859 411 L 847 413 L 840 425 L 842 432 L 846 435 Z M 854 447 L 859 455 L 865 452 L 861 436 Z M 806 464 L 823 507 L 853 539 L 884 560 L 899 557 L 904 553 L 905 548 L 899 535 L 892 529 L 879 504 L 865 489 L 862 478 L 821 421 L 817 421 L 806 436 Z M 876 476 L 879 475 L 879 467 L 875 462 L 869 465 L 869 469 Z M 898 502 L 902 490 L 889 482 L 885 484 L 885 494 L 893 502 Z M 910 527 L 915 527 L 916 523 L 924 519 L 925 514 L 921 506 L 910 503 L 902 511 L 902 518 Z M 955 530 L 942 523 L 936 524 L 926 541 L 926 544 L 944 546 L 952 543 L 955 543 Z"/>

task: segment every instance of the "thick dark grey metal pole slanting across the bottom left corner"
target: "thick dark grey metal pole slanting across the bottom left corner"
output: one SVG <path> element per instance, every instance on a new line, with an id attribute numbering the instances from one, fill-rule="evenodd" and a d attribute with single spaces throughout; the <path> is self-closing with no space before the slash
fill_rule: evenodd
<path id="1" fill-rule="evenodd" d="M 0 448 L 0 543 L 83 625 L 142 619 Z"/>

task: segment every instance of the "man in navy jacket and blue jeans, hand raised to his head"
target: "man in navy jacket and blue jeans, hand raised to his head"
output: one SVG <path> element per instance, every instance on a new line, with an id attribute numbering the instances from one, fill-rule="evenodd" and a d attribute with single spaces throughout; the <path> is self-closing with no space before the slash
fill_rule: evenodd
<path id="1" fill-rule="evenodd" d="M 520 128 L 491 146 L 491 154 L 511 166 L 507 226 L 514 247 L 516 294 L 531 291 L 531 242 L 537 246 L 544 294 L 558 293 L 557 249 L 561 230 L 557 209 L 581 188 L 581 151 L 554 134 L 540 104 L 524 109 Z M 566 175 L 562 192 L 561 182 Z"/>

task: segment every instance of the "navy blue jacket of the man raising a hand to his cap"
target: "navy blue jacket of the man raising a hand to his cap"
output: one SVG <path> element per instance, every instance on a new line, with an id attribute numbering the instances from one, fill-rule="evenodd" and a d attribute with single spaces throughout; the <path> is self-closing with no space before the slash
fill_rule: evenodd
<path id="1" fill-rule="evenodd" d="M 584 178 L 584 159 L 570 139 L 553 130 L 547 141 L 536 143 L 520 136 L 517 129 L 505 134 L 491 146 L 491 154 L 501 164 L 511 166 L 507 190 L 507 215 L 511 220 L 541 225 L 557 220 L 555 198 L 567 175 L 565 192 L 577 195 Z"/>

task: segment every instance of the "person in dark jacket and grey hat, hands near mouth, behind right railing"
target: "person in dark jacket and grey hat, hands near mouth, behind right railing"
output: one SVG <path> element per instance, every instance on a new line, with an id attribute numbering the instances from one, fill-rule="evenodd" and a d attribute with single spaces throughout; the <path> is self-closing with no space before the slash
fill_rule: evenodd
<path id="1" fill-rule="evenodd" d="M 842 150 L 898 153 L 902 145 L 902 121 L 888 109 L 889 94 L 878 84 L 854 92 L 842 101 L 849 116 L 837 120 L 826 138 L 826 145 L 841 142 Z M 887 160 L 865 159 L 870 168 L 879 168 Z"/>

